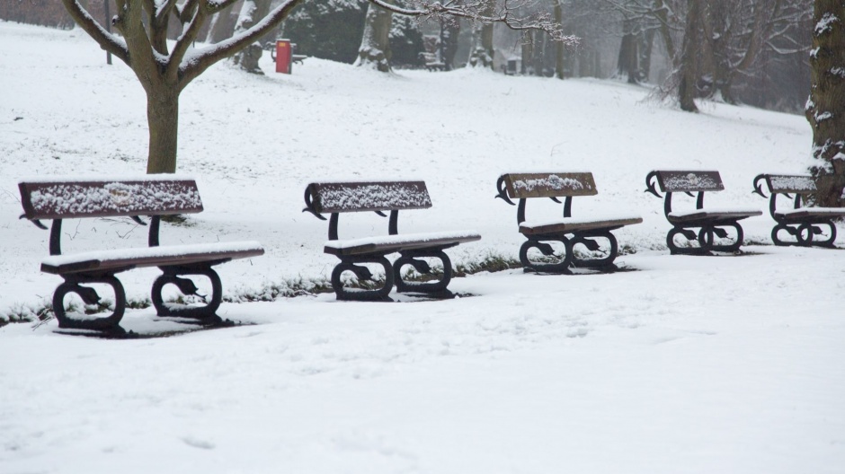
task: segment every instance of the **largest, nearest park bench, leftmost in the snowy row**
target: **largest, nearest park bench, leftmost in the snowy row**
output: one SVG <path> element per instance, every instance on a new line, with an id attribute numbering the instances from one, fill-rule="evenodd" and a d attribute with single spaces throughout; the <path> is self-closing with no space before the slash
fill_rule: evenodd
<path id="1" fill-rule="evenodd" d="M 41 220 L 52 219 L 49 254 L 41 261 L 41 271 L 61 276 L 65 282 L 53 294 L 53 312 L 59 328 L 123 332 L 120 320 L 126 309 L 126 293 L 117 274 L 132 268 L 158 267 L 162 275 L 152 285 L 152 302 L 159 316 L 191 318 L 211 322 L 220 305 L 223 288 L 212 267 L 232 259 L 262 255 L 255 241 L 216 242 L 190 245 L 159 245 L 163 215 L 192 214 L 202 211 L 202 201 L 194 180 L 172 175 L 149 175 L 130 179 L 98 178 L 25 180 L 18 185 L 24 214 L 42 229 Z M 149 216 L 145 223 L 140 216 Z M 63 255 L 62 221 L 71 218 L 129 217 L 149 226 L 147 247 L 87 251 Z M 212 294 L 205 306 L 165 303 L 162 290 L 175 285 L 182 294 L 197 294 L 197 286 L 182 276 L 205 276 Z M 114 291 L 114 311 L 106 317 L 71 317 L 65 310 L 65 296 L 77 294 L 85 304 L 97 304 L 100 295 L 91 284 L 110 285 Z M 200 296 L 201 297 L 201 296 Z M 205 299 L 203 297 L 203 299 Z"/>

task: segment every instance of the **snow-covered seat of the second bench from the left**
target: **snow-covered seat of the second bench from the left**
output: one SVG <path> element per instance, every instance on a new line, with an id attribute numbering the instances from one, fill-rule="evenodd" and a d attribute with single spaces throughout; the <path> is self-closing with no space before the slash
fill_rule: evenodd
<path id="1" fill-rule="evenodd" d="M 362 239 L 326 241 L 325 253 L 332 255 L 366 255 L 371 253 L 393 253 L 402 250 L 431 247 L 451 247 L 459 243 L 481 240 L 475 231 L 440 233 L 403 233 L 401 235 L 380 235 Z"/>

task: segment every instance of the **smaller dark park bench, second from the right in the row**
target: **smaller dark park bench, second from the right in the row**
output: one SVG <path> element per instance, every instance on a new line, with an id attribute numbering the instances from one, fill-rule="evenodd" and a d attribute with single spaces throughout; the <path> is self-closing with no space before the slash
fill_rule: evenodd
<path id="1" fill-rule="evenodd" d="M 716 208 L 704 206 L 704 193 L 725 189 L 718 171 L 651 171 L 645 177 L 645 192 L 663 198 L 657 187 L 666 193 L 663 200 L 663 215 L 672 229 L 666 234 L 666 245 L 672 254 L 709 254 L 711 250 L 734 252 L 743 245 L 743 226 L 739 221 L 762 215 L 759 209 L 752 208 Z M 672 195 L 686 193 L 696 198 L 696 208 L 687 211 L 672 210 Z M 693 195 L 692 193 L 698 193 Z M 729 237 L 726 228 L 734 229 L 734 237 Z M 696 233 L 693 229 L 698 229 Z M 675 242 L 677 235 L 683 236 L 687 243 L 698 241 L 698 247 L 679 246 Z M 719 243 L 719 239 L 733 240 L 731 243 Z"/>

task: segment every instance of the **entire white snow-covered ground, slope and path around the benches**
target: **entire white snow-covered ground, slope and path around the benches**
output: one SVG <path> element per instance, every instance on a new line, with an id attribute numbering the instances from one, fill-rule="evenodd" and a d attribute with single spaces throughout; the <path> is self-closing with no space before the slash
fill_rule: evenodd
<path id="1" fill-rule="evenodd" d="M 143 92 L 104 57 L 82 31 L 0 22 L 0 318 L 60 281 L 39 272 L 49 233 L 18 220 L 18 180 L 145 170 Z M 632 271 L 481 273 L 450 285 L 473 296 L 439 302 L 224 303 L 245 325 L 173 338 L 6 325 L 0 473 L 845 472 L 845 252 L 775 248 L 767 213 L 743 221 L 742 256 L 670 256 L 663 203 L 643 192 L 656 168 L 716 169 L 726 190 L 708 203 L 765 210 L 752 179 L 805 170 L 805 118 L 687 114 L 609 81 L 314 58 L 275 75 L 263 59 L 267 76 L 220 65 L 182 93 L 178 167 L 206 211 L 162 229 L 163 244 L 262 242 L 263 257 L 219 267 L 228 298 L 330 274 L 327 226 L 300 212 L 311 180 L 426 180 L 434 206 L 400 214 L 400 232 L 475 229 L 449 250 L 472 264 L 523 241 L 493 198 L 502 172 L 592 171 L 600 194 L 573 214 L 642 215 L 617 231 Z M 356 217 L 342 236 L 387 233 Z M 65 231 L 66 252 L 146 243 L 130 221 Z M 129 299 L 155 275 L 121 274 Z"/>

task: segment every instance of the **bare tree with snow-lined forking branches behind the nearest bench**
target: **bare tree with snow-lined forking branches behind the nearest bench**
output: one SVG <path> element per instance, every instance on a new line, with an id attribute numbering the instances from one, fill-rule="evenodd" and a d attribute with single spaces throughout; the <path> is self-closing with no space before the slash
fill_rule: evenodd
<path id="1" fill-rule="evenodd" d="M 477 22 L 501 22 L 515 30 L 540 29 L 557 40 L 567 40 L 559 25 L 544 17 L 516 14 L 512 2 L 502 0 L 492 13 L 482 4 L 423 3 L 400 8 L 385 0 L 369 0 L 382 8 L 421 18 L 457 16 Z M 236 0 L 115 0 L 111 23 L 120 35 L 106 31 L 79 0 L 62 0 L 68 13 L 100 46 L 129 66 L 147 92 L 149 154 L 147 172 L 174 172 L 179 124 L 179 95 L 194 79 L 218 61 L 230 57 L 276 28 L 304 0 L 283 0 L 245 31 L 212 46 L 192 49 L 203 26 Z M 167 43 L 168 26 L 176 21 L 181 33 Z"/>

